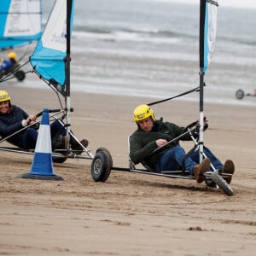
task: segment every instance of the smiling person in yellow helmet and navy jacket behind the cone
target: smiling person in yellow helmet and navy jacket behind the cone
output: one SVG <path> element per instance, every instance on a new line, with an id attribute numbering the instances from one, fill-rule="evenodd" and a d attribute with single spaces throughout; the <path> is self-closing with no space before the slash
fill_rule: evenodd
<path id="1" fill-rule="evenodd" d="M 9 137 L 20 129 L 32 125 L 37 119 L 36 115 L 28 115 L 23 109 L 12 105 L 9 93 L 0 90 L 0 136 Z M 67 130 L 58 120 L 50 124 L 50 134 L 52 148 L 67 148 Z M 29 126 L 23 131 L 9 137 L 9 143 L 15 144 L 20 148 L 34 149 L 38 139 L 38 131 L 34 126 Z M 86 148 L 88 141 L 83 139 L 80 143 Z M 73 150 L 83 150 L 83 148 L 72 137 L 70 145 Z"/>

